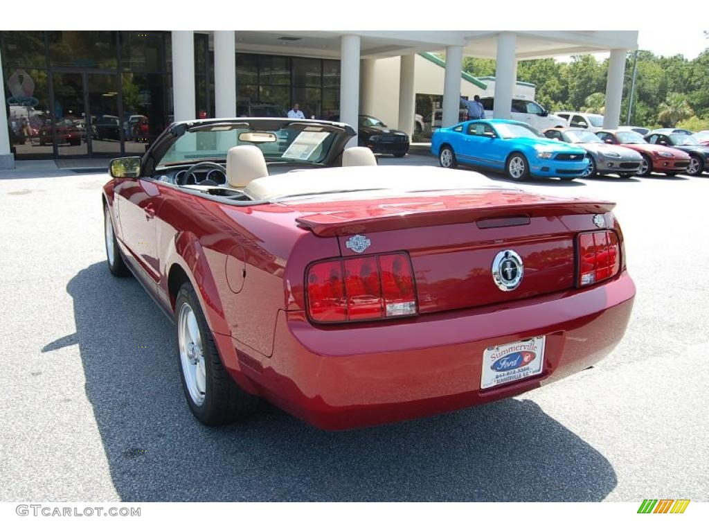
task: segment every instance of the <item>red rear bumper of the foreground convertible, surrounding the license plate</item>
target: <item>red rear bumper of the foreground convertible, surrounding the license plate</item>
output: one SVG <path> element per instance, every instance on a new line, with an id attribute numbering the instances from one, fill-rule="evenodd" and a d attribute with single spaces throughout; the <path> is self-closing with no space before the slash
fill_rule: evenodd
<path id="1" fill-rule="evenodd" d="M 583 291 L 396 324 L 317 328 L 300 312 L 280 311 L 272 357 L 239 353 L 238 377 L 327 430 L 429 416 L 512 397 L 595 364 L 623 337 L 634 296 L 623 272 Z M 480 389 L 486 348 L 540 335 L 547 337 L 541 375 Z"/>

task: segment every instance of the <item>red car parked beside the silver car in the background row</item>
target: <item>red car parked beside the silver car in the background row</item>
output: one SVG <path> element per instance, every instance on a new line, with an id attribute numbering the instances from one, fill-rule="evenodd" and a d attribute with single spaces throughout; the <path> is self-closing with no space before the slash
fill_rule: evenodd
<path id="1" fill-rule="evenodd" d="M 630 148 L 642 155 L 642 164 L 637 175 L 647 177 L 652 172 L 659 172 L 665 175 L 681 174 L 687 170 L 690 157 L 682 150 L 669 148 L 657 144 L 649 144 L 642 138 L 640 133 L 627 130 L 603 130 L 597 131 L 598 135 L 606 144 L 618 144 L 624 148 Z"/>

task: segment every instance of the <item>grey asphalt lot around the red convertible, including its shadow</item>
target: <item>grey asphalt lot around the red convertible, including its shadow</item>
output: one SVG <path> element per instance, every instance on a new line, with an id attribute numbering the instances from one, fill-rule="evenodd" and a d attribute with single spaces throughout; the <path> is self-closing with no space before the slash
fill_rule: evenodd
<path id="1" fill-rule="evenodd" d="M 108 273 L 107 179 L 0 179 L 0 500 L 709 500 L 709 175 L 513 184 L 618 203 L 637 284 L 623 342 L 515 399 L 340 433 L 275 408 L 191 416 L 171 323 Z"/>

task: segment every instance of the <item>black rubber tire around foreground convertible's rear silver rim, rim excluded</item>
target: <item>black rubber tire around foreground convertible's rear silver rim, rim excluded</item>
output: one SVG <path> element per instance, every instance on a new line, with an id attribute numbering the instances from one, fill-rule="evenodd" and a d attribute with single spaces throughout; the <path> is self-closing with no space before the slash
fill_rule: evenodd
<path id="1" fill-rule="evenodd" d="M 201 338 L 203 338 L 202 353 L 206 379 L 202 404 L 196 404 L 191 397 L 179 352 L 179 316 L 180 309 L 182 309 L 182 306 L 185 304 L 189 305 L 194 312 L 199 334 Z M 214 343 L 214 338 L 204 318 L 204 313 L 199 304 L 197 294 L 194 292 L 194 288 L 189 282 L 184 283 L 177 293 L 177 300 L 175 302 L 175 323 L 178 345 L 177 363 L 179 365 L 180 379 L 182 380 L 182 389 L 184 390 L 189 409 L 196 419 L 207 426 L 218 426 L 245 418 L 258 411 L 262 406 L 262 399 L 241 389 L 231 378 L 227 370 L 225 370 L 216 344 Z"/>

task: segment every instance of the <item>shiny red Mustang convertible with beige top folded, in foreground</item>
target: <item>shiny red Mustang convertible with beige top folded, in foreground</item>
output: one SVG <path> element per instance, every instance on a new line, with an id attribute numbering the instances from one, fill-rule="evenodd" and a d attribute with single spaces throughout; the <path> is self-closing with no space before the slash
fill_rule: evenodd
<path id="1" fill-rule="evenodd" d="M 176 323 L 207 425 L 325 429 L 496 401 L 596 364 L 635 297 L 608 201 L 378 167 L 344 123 L 174 123 L 111 162 L 106 253 Z M 599 392 L 603 392 L 599 390 Z"/>

